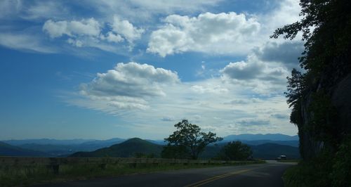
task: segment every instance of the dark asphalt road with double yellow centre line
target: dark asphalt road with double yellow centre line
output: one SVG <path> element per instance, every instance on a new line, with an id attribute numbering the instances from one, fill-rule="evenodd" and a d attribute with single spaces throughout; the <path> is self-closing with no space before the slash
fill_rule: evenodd
<path id="1" fill-rule="evenodd" d="M 151 174 L 131 174 L 108 179 L 69 181 L 43 186 L 284 186 L 282 174 L 291 163 L 267 161 L 267 164 L 234 167 L 180 169 Z"/>

